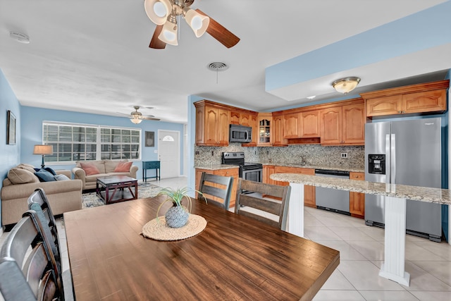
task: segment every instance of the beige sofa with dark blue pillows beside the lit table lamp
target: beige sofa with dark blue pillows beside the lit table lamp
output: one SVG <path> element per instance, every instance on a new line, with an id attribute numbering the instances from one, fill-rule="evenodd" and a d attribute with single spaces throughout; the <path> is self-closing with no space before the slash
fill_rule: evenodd
<path id="1" fill-rule="evenodd" d="M 19 164 L 8 171 L 1 188 L 1 224 L 17 223 L 28 210 L 27 199 L 37 188 L 44 189 L 51 211 L 55 215 L 82 209 L 82 181 L 56 180 L 39 182 L 32 172 L 33 166 Z M 70 171 L 56 171 L 70 178 Z"/>

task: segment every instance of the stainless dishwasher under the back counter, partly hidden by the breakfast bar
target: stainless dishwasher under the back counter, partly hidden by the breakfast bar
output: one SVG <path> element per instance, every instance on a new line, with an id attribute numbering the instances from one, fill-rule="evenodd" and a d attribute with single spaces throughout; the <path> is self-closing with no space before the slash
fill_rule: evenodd
<path id="1" fill-rule="evenodd" d="M 349 179 L 350 172 L 315 169 L 315 176 Z M 350 192 L 333 188 L 316 187 L 316 208 L 351 215 Z"/>

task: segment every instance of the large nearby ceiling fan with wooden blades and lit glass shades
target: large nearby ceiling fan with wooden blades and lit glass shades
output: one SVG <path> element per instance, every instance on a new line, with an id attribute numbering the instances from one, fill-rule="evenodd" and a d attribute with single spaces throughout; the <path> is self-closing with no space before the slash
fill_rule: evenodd
<path id="1" fill-rule="evenodd" d="M 150 48 L 164 49 L 166 44 L 178 45 L 177 16 L 185 18 L 196 37 L 201 37 L 207 32 L 227 48 L 240 42 L 239 37 L 233 35 L 223 25 L 207 16 L 206 13 L 200 9 L 194 11 L 190 8 L 193 2 L 194 0 L 144 0 L 144 9 L 147 16 L 156 24 L 154 35 L 149 44 Z"/>

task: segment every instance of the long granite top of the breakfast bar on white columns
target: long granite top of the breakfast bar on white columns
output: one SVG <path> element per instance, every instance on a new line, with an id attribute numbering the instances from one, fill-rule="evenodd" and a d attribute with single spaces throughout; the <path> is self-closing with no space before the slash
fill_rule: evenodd
<path id="1" fill-rule="evenodd" d="M 307 176 L 298 173 L 273 173 L 273 180 L 290 183 L 319 186 L 347 190 L 352 192 L 367 193 L 369 195 L 385 195 L 402 199 L 414 199 L 421 202 L 438 204 L 451 204 L 450 190 L 440 188 L 425 188 L 409 185 L 373 183 L 366 180 L 348 180 L 342 178 L 324 178 Z"/>

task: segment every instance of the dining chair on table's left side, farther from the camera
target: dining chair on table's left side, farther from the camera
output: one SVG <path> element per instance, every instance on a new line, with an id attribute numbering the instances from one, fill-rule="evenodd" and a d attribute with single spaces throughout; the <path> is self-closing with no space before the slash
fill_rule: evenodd
<path id="1" fill-rule="evenodd" d="M 64 300 L 73 300 L 73 282 L 72 275 L 69 270 L 63 271 L 61 262 L 61 242 L 59 240 L 58 228 L 56 227 L 55 216 L 51 211 L 49 199 L 42 188 L 37 188 L 30 197 L 28 197 L 28 208 L 31 209 L 29 214 L 39 219 L 37 224 L 38 231 L 48 238 L 49 248 L 54 254 L 56 261 L 56 276 L 60 288 L 63 290 Z"/>

